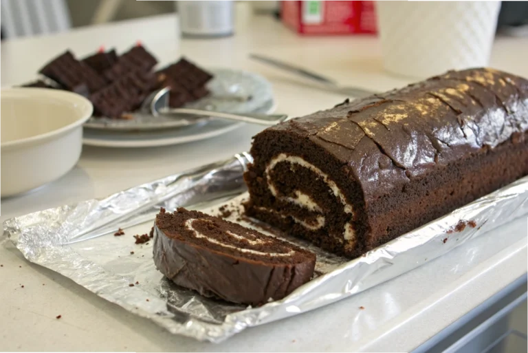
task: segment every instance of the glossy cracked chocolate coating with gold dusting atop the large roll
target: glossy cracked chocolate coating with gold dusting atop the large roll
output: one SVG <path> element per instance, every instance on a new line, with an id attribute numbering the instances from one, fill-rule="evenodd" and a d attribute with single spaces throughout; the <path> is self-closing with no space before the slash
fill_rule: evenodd
<path id="1" fill-rule="evenodd" d="M 527 131 L 528 81 L 487 68 L 448 72 L 270 129 L 338 158 L 368 200 Z"/>

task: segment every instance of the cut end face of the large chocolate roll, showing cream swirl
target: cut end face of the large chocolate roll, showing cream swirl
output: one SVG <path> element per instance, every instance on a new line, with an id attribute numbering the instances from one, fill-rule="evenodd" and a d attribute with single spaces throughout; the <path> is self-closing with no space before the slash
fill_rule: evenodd
<path id="1" fill-rule="evenodd" d="M 346 166 L 299 133 L 290 122 L 256 137 L 245 213 L 331 253 L 358 256 L 367 231 L 361 187 Z"/>

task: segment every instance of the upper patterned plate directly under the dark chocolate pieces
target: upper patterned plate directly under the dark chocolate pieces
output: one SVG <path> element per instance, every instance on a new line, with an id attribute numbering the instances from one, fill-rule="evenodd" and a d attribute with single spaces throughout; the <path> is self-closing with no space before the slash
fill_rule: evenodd
<path id="1" fill-rule="evenodd" d="M 211 94 L 185 107 L 244 114 L 256 111 L 268 100 L 273 99 L 272 85 L 262 76 L 233 69 L 210 69 L 209 71 L 214 75 L 207 85 Z M 250 96 L 251 99 L 241 102 L 218 98 L 225 96 Z M 89 129 L 114 131 L 146 131 L 181 127 L 174 118 L 139 113 L 132 114 L 132 116 L 133 119 L 130 120 L 92 117 L 84 126 Z"/>

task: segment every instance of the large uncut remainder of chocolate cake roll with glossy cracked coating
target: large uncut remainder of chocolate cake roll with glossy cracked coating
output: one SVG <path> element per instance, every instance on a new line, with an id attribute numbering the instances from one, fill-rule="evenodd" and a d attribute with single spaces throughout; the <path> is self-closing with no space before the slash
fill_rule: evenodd
<path id="1" fill-rule="evenodd" d="M 270 127 L 245 173 L 252 217 L 347 257 L 528 174 L 528 81 L 448 72 Z"/>

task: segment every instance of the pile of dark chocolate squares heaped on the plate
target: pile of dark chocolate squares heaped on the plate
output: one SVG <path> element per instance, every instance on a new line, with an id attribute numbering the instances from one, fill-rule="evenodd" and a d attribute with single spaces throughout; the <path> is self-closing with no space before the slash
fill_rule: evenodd
<path id="1" fill-rule="evenodd" d="M 212 76 L 186 59 L 158 72 L 153 71 L 156 64 L 157 59 L 140 44 L 121 55 L 99 50 L 82 60 L 67 51 L 40 70 L 54 86 L 42 80 L 24 86 L 76 92 L 91 100 L 94 116 L 107 118 L 126 118 L 125 113 L 138 109 L 148 94 L 163 87 L 170 87 L 170 107 L 209 94 L 206 83 Z"/>

